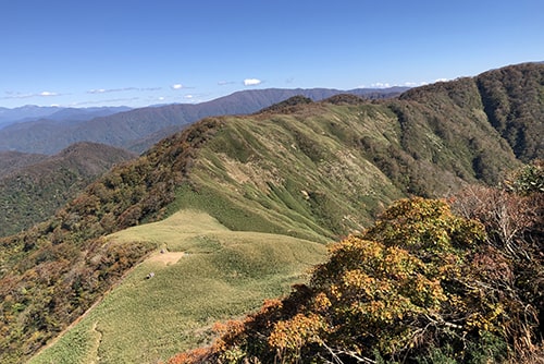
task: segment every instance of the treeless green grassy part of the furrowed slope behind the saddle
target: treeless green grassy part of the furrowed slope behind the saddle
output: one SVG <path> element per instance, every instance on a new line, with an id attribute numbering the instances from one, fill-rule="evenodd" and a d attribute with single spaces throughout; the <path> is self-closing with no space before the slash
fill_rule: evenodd
<path id="1" fill-rule="evenodd" d="M 234 230 L 317 241 L 360 230 L 403 194 L 346 139 L 384 139 L 396 133 L 393 118 L 384 108 L 331 105 L 227 118 L 172 208 L 203 209 Z"/>

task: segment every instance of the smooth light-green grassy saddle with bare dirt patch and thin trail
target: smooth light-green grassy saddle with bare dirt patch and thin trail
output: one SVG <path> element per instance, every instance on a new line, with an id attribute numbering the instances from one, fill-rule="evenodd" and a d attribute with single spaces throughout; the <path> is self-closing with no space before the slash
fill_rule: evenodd
<path id="1" fill-rule="evenodd" d="M 153 363 L 202 344 L 217 320 L 286 293 L 322 262 L 322 244 L 257 232 L 234 232 L 209 215 L 180 211 L 166 220 L 110 235 L 119 244 L 145 240 L 156 253 L 138 265 L 77 325 L 30 363 Z M 146 279 L 149 272 L 152 279 Z"/>

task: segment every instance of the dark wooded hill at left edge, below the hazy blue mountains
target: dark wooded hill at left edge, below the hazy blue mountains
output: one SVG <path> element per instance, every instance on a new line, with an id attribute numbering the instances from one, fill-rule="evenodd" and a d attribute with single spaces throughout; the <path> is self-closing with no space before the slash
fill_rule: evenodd
<path id="1" fill-rule="evenodd" d="M 8 156 L 14 153 L 4 153 L 0 158 L 21 167 L 0 175 L 0 236 L 46 220 L 113 165 L 136 157 L 127 150 L 95 143 L 74 144 L 52 157 Z"/>

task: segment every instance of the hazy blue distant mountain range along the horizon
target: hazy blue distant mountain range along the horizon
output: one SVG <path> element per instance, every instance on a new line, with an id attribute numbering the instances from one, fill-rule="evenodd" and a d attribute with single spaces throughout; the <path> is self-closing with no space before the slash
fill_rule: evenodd
<path id="1" fill-rule="evenodd" d="M 398 96 L 406 89 L 406 87 L 351 90 L 269 88 L 237 92 L 201 104 L 166 105 L 134 110 L 38 107 L 0 109 L 0 128 L 2 123 L 4 125 L 0 130 L 0 150 L 52 155 L 72 143 L 87 141 L 141 153 L 161 138 L 202 118 L 248 114 L 296 95 L 321 100 L 347 93 L 380 99 Z M 18 119 L 18 122 L 8 122 L 15 119 Z"/>

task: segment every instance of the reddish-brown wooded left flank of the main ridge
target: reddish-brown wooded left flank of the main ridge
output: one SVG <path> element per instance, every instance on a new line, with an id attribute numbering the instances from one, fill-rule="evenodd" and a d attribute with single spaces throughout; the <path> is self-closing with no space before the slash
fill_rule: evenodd
<path id="1" fill-rule="evenodd" d="M 104 244 L 101 236 L 163 216 L 195 148 L 218 125 L 205 120 L 164 139 L 89 185 L 50 220 L 0 240 L 0 361 L 29 357 L 154 247 Z"/>

